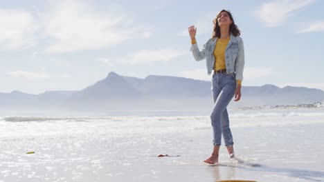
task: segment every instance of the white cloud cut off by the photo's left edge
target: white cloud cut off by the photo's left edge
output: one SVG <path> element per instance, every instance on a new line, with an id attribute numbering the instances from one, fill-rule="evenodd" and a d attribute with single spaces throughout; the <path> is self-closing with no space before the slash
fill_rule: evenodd
<path id="1" fill-rule="evenodd" d="M 0 49 L 26 48 L 35 44 L 39 26 L 33 14 L 25 10 L 0 9 Z"/>

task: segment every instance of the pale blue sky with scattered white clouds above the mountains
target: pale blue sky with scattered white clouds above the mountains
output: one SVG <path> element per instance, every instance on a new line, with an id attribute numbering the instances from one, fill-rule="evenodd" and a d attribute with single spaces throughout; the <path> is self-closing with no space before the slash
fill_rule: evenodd
<path id="1" fill-rule="evenodd" d="M 244 41 L 242 85 L 324 90 L 322 0 L 0 0 L 0 92 L 82 90 L 109 72 L 210 81 L 190 52 L 230 10 Z"/>

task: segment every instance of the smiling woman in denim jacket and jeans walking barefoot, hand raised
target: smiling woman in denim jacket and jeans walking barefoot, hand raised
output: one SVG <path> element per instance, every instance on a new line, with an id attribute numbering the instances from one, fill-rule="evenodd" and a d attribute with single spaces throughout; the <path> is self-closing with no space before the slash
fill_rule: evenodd
<path id="1" fill-rule="evenodd" d="M 234 23 L 231 12 L 222 10 L 213 21 L 213 36 L 199 50 L 196 41 L 197 28 L 188 28 L 193 57 L 196 61 L 206 59 L 208 74 L 213 71 L 212 92 L 213 112 L 210 114 L 213 126 L 213 153 L 204 162 L 218 163 L 219 146 L 222 134 L 230 158 L 234 157 L 233 136 L 229 128 L 226 107 L 235 95 L 235 101 L 241 98 L 241 85 L 244 68 L 244 46 L 240 30 Z"/>

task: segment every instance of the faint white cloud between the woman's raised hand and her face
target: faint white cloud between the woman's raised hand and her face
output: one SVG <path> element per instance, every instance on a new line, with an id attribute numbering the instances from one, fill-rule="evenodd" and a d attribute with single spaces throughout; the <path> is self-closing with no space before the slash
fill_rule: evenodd
<path id="1" fill-rule="evenodd" d="M 213 20 L 215 19 L 217 15 L 217 12 L 208 12 L 207 14 L 204 14 L 203 16 L 199 17 L 193 24 L 188 24 L 189 26 L 194 25 L 197 27 L 197 34 L 212 34 L 213 32 Z M 179 32 L 180 36 L 189 36 L 188 28 L 182 30 Z"/>

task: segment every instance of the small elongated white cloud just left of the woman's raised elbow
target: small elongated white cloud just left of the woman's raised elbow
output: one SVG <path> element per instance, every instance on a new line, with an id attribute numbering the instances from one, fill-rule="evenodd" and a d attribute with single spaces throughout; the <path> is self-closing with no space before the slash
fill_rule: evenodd
<path id="1" fill-rule="evenodd" d="M 168 62 L 179 57 L 185 52 L 179 50 L 171 49 L 161 49 L 161 50 L 141 50 L 136 52 L 134 56 L 130 59 L 132 64 L 144 64 L 144 63 L 154 63 L 154 62 Z"/>

